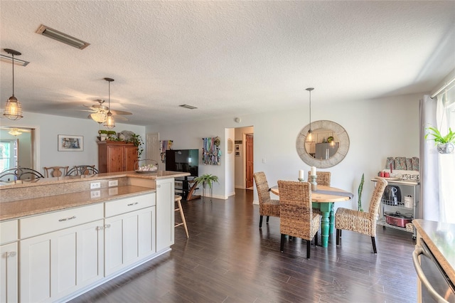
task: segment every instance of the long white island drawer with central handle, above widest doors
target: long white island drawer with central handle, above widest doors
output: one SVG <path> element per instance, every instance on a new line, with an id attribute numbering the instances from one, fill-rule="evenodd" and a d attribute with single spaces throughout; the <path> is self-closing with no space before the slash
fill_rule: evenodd
<path id="1" fill-rule="evenodd" d="M 19 219 L 20 237 L 29 238 L 34 235 L 50 233 L 55 230 L 69 228 L 103 218 L 103 204 L 71 208 L 55 213 Z"/>

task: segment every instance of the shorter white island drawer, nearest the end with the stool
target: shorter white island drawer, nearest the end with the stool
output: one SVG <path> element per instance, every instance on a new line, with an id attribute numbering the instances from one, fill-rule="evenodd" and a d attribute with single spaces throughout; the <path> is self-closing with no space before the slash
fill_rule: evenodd
<path id="1" fill-rule="evenodd" d="M 123 198 L 105 203 L 105 216 L 112 217 L 155 205 L 155 193 Z"/>

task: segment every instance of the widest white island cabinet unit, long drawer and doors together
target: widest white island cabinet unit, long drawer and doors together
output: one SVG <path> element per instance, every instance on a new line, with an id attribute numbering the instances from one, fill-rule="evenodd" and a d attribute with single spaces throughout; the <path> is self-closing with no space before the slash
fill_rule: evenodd
<path id="1" fill-rule="evenodd" d="M 98 220 L 85 223 L 94 216 Z M 103 206 L 97 204 L 19 220 L 21 235 L 46 230 L 19 242 L 21 302 L 55 301 L 104 277 L 102 217 Z M 30 225 L 35 220 L 40 228 Z M 60 229 L 74 222 L 80 225 Z"/>

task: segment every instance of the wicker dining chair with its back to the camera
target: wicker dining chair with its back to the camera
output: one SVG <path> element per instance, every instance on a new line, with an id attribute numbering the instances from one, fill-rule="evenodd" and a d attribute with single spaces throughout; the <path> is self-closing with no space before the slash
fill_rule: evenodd
<path id="1" fill-rule="evenodd" d="M 279 232 L 282 234 L 280 250 L 283 252 L 284 238 L 296 237 L 306 240 L 306 258 L 310 258 L 310 242 L 318 243 L 321 215 L 311 208 L 311 184 L 298 181 L 278 181 L 279 189 Z"/>

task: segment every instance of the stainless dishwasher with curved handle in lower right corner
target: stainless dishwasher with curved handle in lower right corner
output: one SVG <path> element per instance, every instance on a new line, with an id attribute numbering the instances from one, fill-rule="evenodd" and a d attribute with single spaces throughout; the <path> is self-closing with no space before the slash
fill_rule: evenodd
<path id="1" fill-rule="evenodd" d="M 419 302 L 455 302 L 455 285 L 449 280 L 424 240 L 420 238 L 418 243 L 412 252 L 412 261 L 417 272 Z"/>

